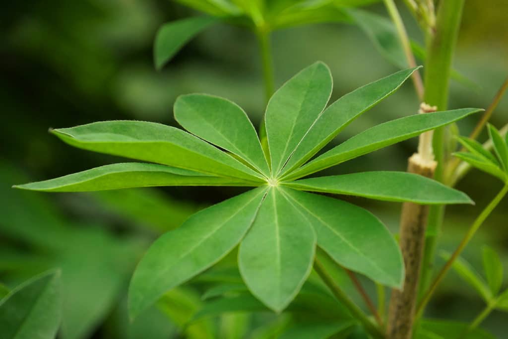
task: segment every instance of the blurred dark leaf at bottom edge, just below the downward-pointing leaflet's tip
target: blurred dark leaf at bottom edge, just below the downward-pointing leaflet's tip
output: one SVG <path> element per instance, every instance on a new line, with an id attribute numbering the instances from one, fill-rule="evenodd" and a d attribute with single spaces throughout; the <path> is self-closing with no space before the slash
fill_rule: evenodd
<path id="1" fill-rule="evenodd" d="M 327 339 L 333 334 L 346 332 L 355 326 L 353 320 L 343 320 L 336 323 L 298 323 L 291 326 L 278 339 Z"/>

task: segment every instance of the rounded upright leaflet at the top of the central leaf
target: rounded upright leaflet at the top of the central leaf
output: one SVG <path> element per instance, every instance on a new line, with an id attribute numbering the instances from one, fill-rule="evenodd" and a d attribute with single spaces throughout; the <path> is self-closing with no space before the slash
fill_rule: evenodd
<path id="1" fill-rule="evenodd" d="M 318 62 L 300 71 L 272 96 L 265 122 L 274 177 L 326 107 L 331 94 L 330 70 Z"/>

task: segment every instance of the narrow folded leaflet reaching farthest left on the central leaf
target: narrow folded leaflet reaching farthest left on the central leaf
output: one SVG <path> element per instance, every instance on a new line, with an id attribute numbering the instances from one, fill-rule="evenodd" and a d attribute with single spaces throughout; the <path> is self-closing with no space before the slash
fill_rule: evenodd
<path id="1" fill-rule="evenodd" d="M 89 192 L 153 186 L 259 185 L 259 182 L 249 183 L 241 179 L 209 176 L 164 165 L 120 163 L 14 187 L 44 192 Z"/>

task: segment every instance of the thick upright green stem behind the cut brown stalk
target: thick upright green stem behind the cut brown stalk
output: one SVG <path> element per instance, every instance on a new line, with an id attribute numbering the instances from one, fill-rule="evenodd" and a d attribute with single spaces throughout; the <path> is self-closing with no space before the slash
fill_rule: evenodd
<path id="1" fill-rule="evenodd" d="M 436 20 L 436 31 L 427 46 L 427 60 L 425 65 L 425 96 L 424 101 L 438 110 L 446 110 L 448 106 L 448 91 L 452 68 L 453 53 L 457 43 L 457 36 L 462 16 L 464 0 L 446 0 L 439 3 Z M 437 168 L 434 178 L 443 181 L 443 168 L 446 133 L 444 128 L 434 131 L 434 155 Z M 428 286 L 432 276 L 432 265 L 437 239 L 441 232 L 444 206 L 430 207 L 428 230 L 433 230 L 433 235 L 426 239 L 425 252 L 422 263 L 420 291 Z"/>

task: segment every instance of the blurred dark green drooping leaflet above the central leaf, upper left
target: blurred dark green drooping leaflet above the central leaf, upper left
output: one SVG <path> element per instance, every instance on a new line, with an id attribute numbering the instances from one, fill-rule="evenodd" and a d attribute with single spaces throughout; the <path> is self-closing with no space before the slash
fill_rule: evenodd
<path id="1" fill-rule="evenodd" d="M 218 18 L 196 16 L 171 21 L 159 28 L 155 36 L 153 58 L 155 68 L 160 70 L 185 45 L 205 28 L 216 23 Z"/>

